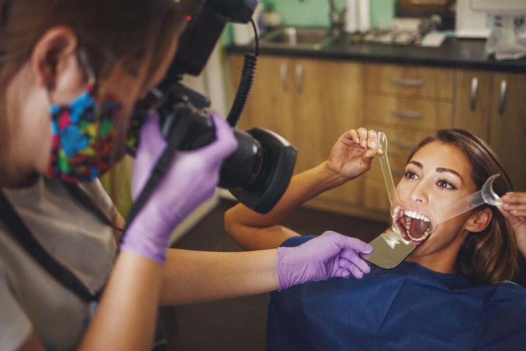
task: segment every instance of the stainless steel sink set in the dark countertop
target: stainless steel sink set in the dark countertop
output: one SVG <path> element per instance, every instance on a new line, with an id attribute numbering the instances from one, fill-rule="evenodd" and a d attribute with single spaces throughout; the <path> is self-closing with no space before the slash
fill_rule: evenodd
<path id="1" fill-rule="evenodd" d="M 332 43 L 336 38 L 328 29 L 286 27 L 260 38 L 260 45 L 265 47 L 290 47 L 319 50 Z"/>

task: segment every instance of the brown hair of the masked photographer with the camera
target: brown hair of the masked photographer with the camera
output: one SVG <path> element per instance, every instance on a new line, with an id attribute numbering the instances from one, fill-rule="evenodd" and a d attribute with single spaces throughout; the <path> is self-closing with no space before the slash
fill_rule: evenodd
<path id="1" fill-rule="evenodd" d="M 6 134 L 6 88 L 31 56 L 33 46 L 53 26 L 73 29 L 96 78 L 103 81 L 115 64 L 140 69 L 137 96 L 123 102 L 124 126 L 140 90 L 169 52 L 185 21 L 174 0 L 0 0 L 0 134 Z M 4 133 L 2 133 L 4 131 Z M 118 128 L 114 149 L 124 148 L 125 128 Z M 6 135 L 0 135 L 0 161 Z M 1 164 L 0 164 L 1 167 Z"/>

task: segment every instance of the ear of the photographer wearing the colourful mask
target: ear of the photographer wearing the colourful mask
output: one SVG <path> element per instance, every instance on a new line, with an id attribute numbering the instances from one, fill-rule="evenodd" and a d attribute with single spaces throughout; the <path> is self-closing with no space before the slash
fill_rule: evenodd
<path id="1" fill-rule="evenodd" d="M 78 63 L 77 44 L 77 35 L 66 26 L 52 27 L 38 39 L 31 53 L 31 67 L 39 86 L 54 89 L 64 81 L 62 76 L 72 83 L 85 80 Z"/>

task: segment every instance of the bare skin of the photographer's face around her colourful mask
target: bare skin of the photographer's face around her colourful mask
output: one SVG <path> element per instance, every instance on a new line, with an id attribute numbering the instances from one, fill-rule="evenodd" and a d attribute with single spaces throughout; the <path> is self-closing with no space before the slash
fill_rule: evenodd
<path id="1" fill-rule="evenodd" d="M 52 38 L 46 40 L 46 35 Z M 71 48 L 68 50 L 65 46 L 64 51 L 57 55 L 56 65 L 46 71 L 46 53 L 53 49 L 52 39 L 57 37 L 62 42 L 70 43 Z M 79 63 L 76 45 L 76 36 L 70 31 L 63 28 L 50 30 L 35 45 L 32 57 L 9 83 L 6 92 L 9 145 L 7 166 L 0 177 L 3 185 L 16 186 L 26 175 L 46 171 L 52 148 L 50 103 L 68 105 L 87 88 L 86 69 Z M 164 76 L 175 55 L 175 48 L 174 41 L 147 85 L 157 84 Z M 46 92 L 45 86 L 49 81 L 53 82 L 53 86 Z M 129 101 L 130 96 L 140 97 L 146 92 L 144 84 L 119 65 L 110 73 L 107 82 L 106 91 L 131 106 L 134 102 Z"/>

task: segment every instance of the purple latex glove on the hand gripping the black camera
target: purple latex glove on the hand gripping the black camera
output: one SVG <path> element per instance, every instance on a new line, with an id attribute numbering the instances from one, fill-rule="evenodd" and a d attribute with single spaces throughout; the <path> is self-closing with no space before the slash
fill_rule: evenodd
<path id="1" fill-rule="evenodd" d="M 216 140 L 193 151 L 175 154 L 168 172 L 126 230 L 121 248 L 164 264 L 171 231 L 199 204 L 214 195 L 225 158 L 237 148 L 230 126 L 217 114 Z M 134 200 L 146 185 L 167 143 L 153 114 L 141 128 L 135 157 L 131 196 Z"/>

